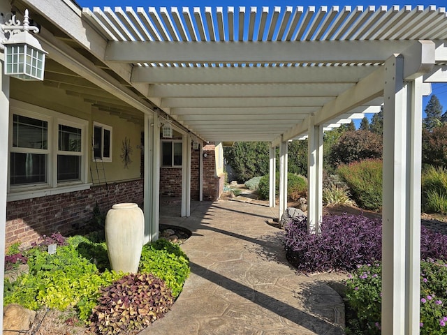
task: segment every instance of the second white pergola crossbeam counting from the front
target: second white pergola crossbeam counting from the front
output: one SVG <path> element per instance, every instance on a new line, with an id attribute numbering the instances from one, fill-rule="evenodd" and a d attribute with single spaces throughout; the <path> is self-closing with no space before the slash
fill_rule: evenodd
<path id="1" fill-rule="evenodd" d="M 132 82 L 149 84 L 358 82 L 374 66 L 174 67 L 134 66 Z"/>

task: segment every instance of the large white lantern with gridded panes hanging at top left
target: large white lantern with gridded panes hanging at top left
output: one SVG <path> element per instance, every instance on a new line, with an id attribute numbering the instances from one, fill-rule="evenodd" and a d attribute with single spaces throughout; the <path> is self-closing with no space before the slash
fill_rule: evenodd
<path id="1" fill-rule="evenodd" d="M 20 80 L 43 80 L 47 52 L 37 38 L 29 34 L 30 30 L 37 34 L 39 29 L 29 25 L 28 15 L 26 9 L 23 25 L 15 20 L 15 15 L 6 24 L 0 24 L 0 49 L 5 50 L 4 73 Z"/>

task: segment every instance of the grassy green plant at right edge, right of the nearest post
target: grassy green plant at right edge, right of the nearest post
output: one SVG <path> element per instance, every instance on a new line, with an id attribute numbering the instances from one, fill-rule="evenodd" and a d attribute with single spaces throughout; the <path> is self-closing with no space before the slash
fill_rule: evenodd
<path id="1" fill-rule="evenodd" d="M 447 168 L 428 166 L 423 171 L 421 184 L 424 211 L 447 214 Z"/>

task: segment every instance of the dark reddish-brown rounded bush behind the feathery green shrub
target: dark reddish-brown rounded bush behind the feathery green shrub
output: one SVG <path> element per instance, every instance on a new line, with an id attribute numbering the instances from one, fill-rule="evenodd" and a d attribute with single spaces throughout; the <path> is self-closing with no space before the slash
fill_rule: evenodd
<path id="1" fill-rule="evenodd" d="M 381 158 L 382 137 L 370 131 L 346 131 L 334 144 L 328 160 L 334 166 Z"/>

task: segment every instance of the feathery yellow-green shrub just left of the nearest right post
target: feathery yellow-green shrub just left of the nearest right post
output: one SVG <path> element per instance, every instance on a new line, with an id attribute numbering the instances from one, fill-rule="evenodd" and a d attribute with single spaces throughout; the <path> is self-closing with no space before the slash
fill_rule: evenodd
<path id="1" fill-rule="evenodd" d="M 346 181 L 353 200 L 363 209 L 382 207 L 382 161 L 366 159 L 349 165 L 340 165 L 337 173 Z"/>

